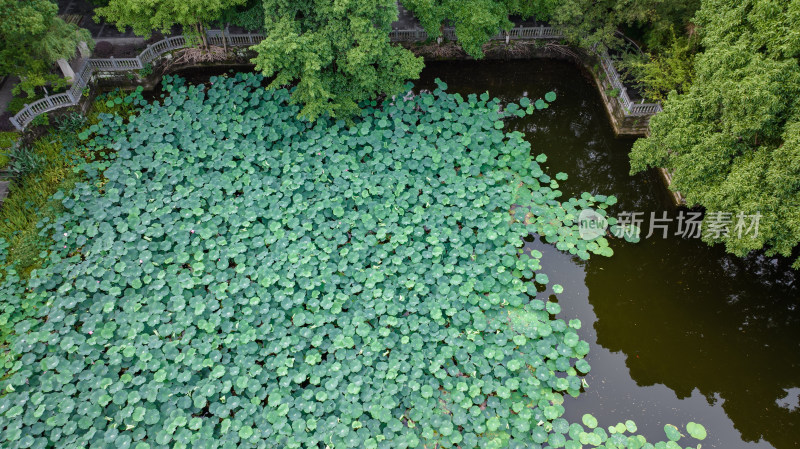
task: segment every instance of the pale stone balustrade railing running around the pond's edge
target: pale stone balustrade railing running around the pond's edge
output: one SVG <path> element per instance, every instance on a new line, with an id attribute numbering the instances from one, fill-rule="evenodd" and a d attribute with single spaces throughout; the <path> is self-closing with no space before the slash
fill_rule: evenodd
<path id="1" fill-rule="evenodd" d="M 442 36 L 448 40 L 457 40 L 455 29 L 452 27 L 444 28 L 442 30 Z M 503 31 L 493 36 L 492 40 L 561 39 L 563 37 L 564 35 L 558 28 L 538 26 L 512 28 L 508 32 Z M 148 45 L 147 48 L 135 58 L 116 59 L 111 57 L 108 59 L 86 59 L 79 70 L 75 72 L 75 79 L 72 83 L 72 87 L 70 87 L 67 92 L 49 95 L 27 104 L 9 120 L 15 128 L 22 131 L 39 114 L 78 104 L 83 95 L 83 89 L 89 85 L 95 73 L 141 70 L 145 65 L 155 61 L 161 55 L 173 50 L 189 47 L 195 44 L 198 39 L 199 37 L 196 36 L 194 39 L 191 37 L 187 38 L 186 36 L 168 37 L 155 44 Z M 389 39 L 392 42 L 420 42 L 428 40 L 428 33 L 426 33 L 425 30 L 416 29 L 392 30 L 389 33 Z M 206 40 L 209 44 L 218 46 L 250 47 L 264 40 L 264 36 L 255 33 L 228 34 L 227 31 L 223 30 L 209 30 L 206 33 Z M 661 111 L 660 103 L 633 103 L 608 53 L 603 52 L 599 57 L 611 86 L 619 91 L 617 100 L 619 100 L 622 105 L 623 112 L 626 116 L 648 116 Z"/>

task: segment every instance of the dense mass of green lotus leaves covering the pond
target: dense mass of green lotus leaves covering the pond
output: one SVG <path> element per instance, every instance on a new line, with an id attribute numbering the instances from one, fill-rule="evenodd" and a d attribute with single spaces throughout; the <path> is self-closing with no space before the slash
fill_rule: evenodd
<path id="1" fill-rule="evenodd" d="M 167 78 L 80 134 L 113 152 L 1 287 L 43 304 L 12 323 L 4 447 L 680 447 L 562 417 L 589 346 L 522 238 L 610 255 L 575 220 L 615 198 L 559 200 L 566 175 L 503 131 L 554 94 L 440 84 L 311 123 L 262 82 Z"/>

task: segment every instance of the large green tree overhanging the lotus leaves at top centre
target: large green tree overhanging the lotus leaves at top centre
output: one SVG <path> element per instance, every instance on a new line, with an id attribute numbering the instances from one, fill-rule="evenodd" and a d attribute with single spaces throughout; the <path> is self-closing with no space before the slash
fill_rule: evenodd
<path id="1" fill-rule="evenodd" d="M 300 115 L 351 117 L 359 102 L 402 91 L 422 59 L 389 42 L 392 0 L 264 0 L 266 38 L 256 68 L 272 86 L 297 84 Z"/>

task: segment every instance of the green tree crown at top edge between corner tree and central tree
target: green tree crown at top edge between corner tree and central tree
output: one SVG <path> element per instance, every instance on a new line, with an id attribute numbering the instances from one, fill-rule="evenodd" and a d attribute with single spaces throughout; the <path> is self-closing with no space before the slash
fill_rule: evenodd
<path id="1" fill-rule="evenodd" d="M 150 37 L 153 31 L 168 33 L 181 25 L 184 33 L 202 34 L 202 26 L 217 20 L 222 11 L 245 0 L 110 0 L 107 6 L 95 9 L 98 18 L 115 25 L 120 31 L 131 27 L 139 36 Z"/>

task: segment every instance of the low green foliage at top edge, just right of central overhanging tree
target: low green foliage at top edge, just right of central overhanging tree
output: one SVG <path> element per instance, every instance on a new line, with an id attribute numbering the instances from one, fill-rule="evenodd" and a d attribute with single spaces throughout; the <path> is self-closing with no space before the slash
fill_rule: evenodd
<path id="1" fill-rule="evenodd" d="M 546 20 L 557 3 L 555 0 L 406 0 L 403 6 L 414 13 L 432 38 L 442 35 L 441 28 L 445 23 L 452 24 L 464 51 L 474 58 L 482 58 L 483 44 L 499 31 L 514 26 L 509 15 Z"/>

